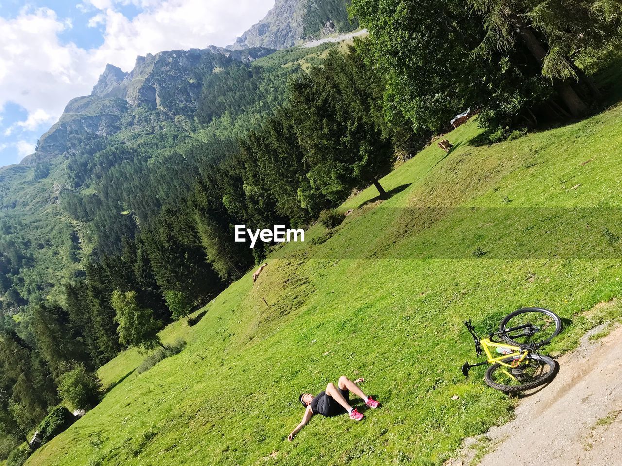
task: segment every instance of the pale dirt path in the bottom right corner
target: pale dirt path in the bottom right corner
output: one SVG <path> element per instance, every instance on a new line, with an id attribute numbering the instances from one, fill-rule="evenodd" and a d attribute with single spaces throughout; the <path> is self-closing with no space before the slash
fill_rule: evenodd
<path id="1" fill-rule="evenodd" d="M 471 464 L 482 441 L 481 466 L 622 465 L 622 327 L 591 342 L 598 331 L 559 359 L 555 380 L 521 400 L 513 421 L 467 439 L 446 465 Z"/>

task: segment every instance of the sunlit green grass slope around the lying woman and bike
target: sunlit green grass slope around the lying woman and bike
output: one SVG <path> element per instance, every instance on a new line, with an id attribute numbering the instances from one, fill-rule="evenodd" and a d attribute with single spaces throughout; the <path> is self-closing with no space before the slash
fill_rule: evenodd
<path id="1" fill-rule="evenodd" d="M 597 304 L 622 291 L 621 117 L 486 147 L 475 123 L 454 130 L 450 155 L 432 145 L 382 180 L 391 198 L 364 190 L 334 232 L 312 227 L 198 324 L 165 329 L 182 353 L 141 375 L 134 352 L 101 368 L 113 387 L 101 404 L 27 464 L 442 464 L 516 404 L 483 368 L 462 377 L 475 360 L 463 320 L 483 330 L 522 306 L 553 309 L 559 353 L 620 316 L 617 300 Z M 341 374 L 365 377 L 381 408 L 361 423 L 315 416 L 287 442 L 299 393 Z"/>

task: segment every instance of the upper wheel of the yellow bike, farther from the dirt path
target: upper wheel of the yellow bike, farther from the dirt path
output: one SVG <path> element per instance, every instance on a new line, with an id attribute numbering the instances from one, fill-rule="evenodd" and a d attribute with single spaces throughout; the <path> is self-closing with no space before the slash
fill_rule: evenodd
<path id="1" fill-rule="evenodd" d="M 562 319 L 549 309 L 522 308 L 509 313 L 499 331 L 509 344 L 542 346 L 562 331 Z"/>

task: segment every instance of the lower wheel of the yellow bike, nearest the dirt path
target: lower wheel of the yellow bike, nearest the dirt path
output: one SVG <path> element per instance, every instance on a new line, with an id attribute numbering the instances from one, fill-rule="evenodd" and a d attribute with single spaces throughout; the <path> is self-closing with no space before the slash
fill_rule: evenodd
<path id="1" fill-rule="evenodd" d="M 527 354 L 522 361 L 521 355 L 503 359 L 508 367 L 498 362 L 491 365 L 486 371 L 488 386 L 505 393 L 531 390 L 549 383 L 557 373 L 557 363 L 548 356 Z"/>

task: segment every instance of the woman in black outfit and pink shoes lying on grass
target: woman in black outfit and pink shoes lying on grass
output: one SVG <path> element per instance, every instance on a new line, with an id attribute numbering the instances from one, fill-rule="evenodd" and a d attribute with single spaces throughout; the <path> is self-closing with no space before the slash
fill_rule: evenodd
<path id="1" fill-rule="evenodd" d="M 337 384 L 339 388 L 331 382 L 326 386 L 325 391 L 321 391 L 316 396 L 311 395 L 311 393 L 303 393 L 300 395 L 300 403 L 305 407 L 305 414 L 302 416 L 300 424 L 287 436 L 287 440 L 291 442 L 296 434 L 300 432 L 300 429 L 310 421 L 313 414 L 337 416 L 337 414 L 348 412 L 350 413 L 350 419 L 353 419 L 353 421 L 360 421 L 363 419 L 363 414 L 350 406 L 350 391 L 360 396 L 360 398 L 363 398 L 363 401 L 369 408 L 378 408 L 378 401 L 372 400 L 370 396 L 365 395 L 363 390 L 356 385 L 363 381 L 365 381 L 363 377 L 351 381 L 348 377 L 342 375 Z"/>

